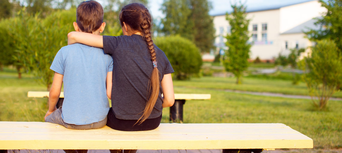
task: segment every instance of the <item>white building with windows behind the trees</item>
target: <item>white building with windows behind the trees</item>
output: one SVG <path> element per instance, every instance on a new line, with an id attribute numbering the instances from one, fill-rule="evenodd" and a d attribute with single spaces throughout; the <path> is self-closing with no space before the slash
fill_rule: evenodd
<path id="1" fill-rule="evenodd" d="M 248 27 L 250 42 L 253 42 L 250 59 L 273 59 L 279 52 L 287 55 L 289 49 L 311 46 L 312 43 L 304 37 L 303 31 L 317 28 L 313 18 L 322 16 L 324 12 L 326 9 L 318 0 L 253 10 L 247 7 L 247 18 L 251 19 Z M 217 50 L 226 49 L 225 36 L 231 31 L 226 15 L 224 13 L 213 17 Z"/>

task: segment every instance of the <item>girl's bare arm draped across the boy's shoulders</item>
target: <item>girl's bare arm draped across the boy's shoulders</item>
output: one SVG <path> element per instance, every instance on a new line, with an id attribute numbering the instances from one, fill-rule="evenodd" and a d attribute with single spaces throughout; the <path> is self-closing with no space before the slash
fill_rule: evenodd
<path id="1" fill-rule="evenodd" d="M 81 43 L 88 46 L 103 48 L 102 35 L 91 34 L 87 32 L 72 31 L 68 33 L 68 45 Z"/>

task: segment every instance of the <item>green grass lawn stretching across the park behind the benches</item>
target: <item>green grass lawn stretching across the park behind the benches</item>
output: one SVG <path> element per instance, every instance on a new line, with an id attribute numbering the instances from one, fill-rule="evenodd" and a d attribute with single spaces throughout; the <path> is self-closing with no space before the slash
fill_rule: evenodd
<path id="1" fill-rule="evenodd" d="M 28 98 L 27 91 L 45 91 L 31 75 L 17 79 L 15 71 L 0 72 L 0 121 L 43 121 L 47 98 Z M 174 81 L 175 93 L 209 93 L 211 100 L 192 100 L 184 105 L 184 123 L 284 123 L 314 140 L 315 148 L 342 148 L 342 103 L 329 101 L 326 111 L 313 111 L 310 100 L 227 93 L 225 86 L 237 90 L 262 87 L 284 92 L 305 90 L 291 81 L 245 79 L 234 86 L 234 78 L 195 78 Z M 273 85 L 273 83 L 278 85 Z M 261 86 L 263 85 L 264 86 Z M 242 88 L 243 87 L 243 88 Z M 242 89 L 240 89 L 242 88 Z M 302 89 L 303 88 L 303 89 Z M 215 90 L 212 90 L 215 89 Z M 341 95 L 341 94 L 340 94 Z M 169 108 L 163 110 L 163 123 L 169 122 Z"/>

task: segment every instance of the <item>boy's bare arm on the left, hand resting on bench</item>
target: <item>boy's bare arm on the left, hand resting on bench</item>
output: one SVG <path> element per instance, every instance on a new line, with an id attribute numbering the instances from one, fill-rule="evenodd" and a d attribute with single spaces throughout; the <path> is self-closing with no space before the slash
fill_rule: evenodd
<path id="1" fill-rule="evenodd" d="M 49 110 L 48 112 L 46 112 L 44 120 L 47 116 L 49 116 L 53 111 L 57 109 L 56 104 L 58 102 L 58 98 L 60 98 L 62 83 L 63 75 L 55 72 L 49 93 Z"/>

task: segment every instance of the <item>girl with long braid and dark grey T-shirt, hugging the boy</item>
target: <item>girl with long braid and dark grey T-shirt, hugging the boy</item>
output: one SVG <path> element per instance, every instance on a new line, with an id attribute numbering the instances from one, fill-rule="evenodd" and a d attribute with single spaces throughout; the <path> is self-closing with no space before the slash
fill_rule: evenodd
<path id="1" fill-rule="evenodd" d="M 122 7 L 119 18 L 122 36 L 74 31 L 68 34 L 68 44 L 103 48 L 113 57 L 112 107 L 106 125 L 120 131 L 152 130 L 160 124 L 162 108 L 174 103 L 174 71 L 153 43 L 152 18 L 143 4 Z"/>

